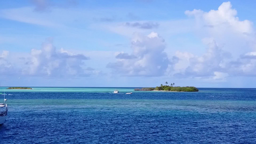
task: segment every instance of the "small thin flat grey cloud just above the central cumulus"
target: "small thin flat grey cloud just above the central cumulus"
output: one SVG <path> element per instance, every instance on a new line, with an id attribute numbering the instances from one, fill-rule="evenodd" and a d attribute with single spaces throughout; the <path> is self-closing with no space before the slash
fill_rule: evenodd
<path id="1" fill-rule="evenodd" d="M 135 28 L 141 28 L 141 29 L 153 29 L 153 28 L 158 28 L 159 24 L 158 23 L 153 23 L 153 22 L 134 22 L 134 23 L 125 23 L 125 26 L 129 27 L 135 27 Z"/>

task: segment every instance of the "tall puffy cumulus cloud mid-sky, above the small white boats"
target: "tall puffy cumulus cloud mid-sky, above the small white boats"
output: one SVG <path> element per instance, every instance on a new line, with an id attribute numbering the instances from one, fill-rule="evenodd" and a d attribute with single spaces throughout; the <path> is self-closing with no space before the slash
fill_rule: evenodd
<path id="1" fill-rule="evenodd" d="M 107 67 L 125 76 L 161 76 L 170 64 L 165 47 L 164 39 L 157 33 L 147 36 L 136 34 L 132 41 L 132 54 L 119 53 L 117 61 Z"/>

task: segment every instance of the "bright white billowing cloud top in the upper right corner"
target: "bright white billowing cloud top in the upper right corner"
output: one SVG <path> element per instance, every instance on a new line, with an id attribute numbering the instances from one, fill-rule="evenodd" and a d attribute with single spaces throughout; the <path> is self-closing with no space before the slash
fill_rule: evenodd
<path id="1" fill-rule="evenodd" d="M 239 20 L 237 11 L 231 2 L 223 2 L 218 10 L 203 12 L 186 11 L 185 14 L 195 20 L 195 33 L 202 39 L 214 39 L 222 49 L 232 53 L 233 60 L 241 54 L 254 50 L 256 45 L 255 30 L 249 20 Z M 193 24 L 193 23 L 192 23 Z"/>

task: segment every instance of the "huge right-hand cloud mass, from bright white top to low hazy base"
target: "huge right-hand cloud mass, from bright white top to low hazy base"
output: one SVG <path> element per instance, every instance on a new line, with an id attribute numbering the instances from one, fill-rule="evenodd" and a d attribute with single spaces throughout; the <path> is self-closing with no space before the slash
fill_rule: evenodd
<path id="1" fill-rule="evenodd" d="M 216 81 L 225 81 L 228 76 L 256 76 L 253 23 L 240 21 L 231 2 L 223 2 L 218 10 L 193 10 L 185 14 L 195 19 L 195 32 L 207 44 L 207 51 L 202 56 L 176 52 L 179 62 L 174 66 L 174 76 Z"/>

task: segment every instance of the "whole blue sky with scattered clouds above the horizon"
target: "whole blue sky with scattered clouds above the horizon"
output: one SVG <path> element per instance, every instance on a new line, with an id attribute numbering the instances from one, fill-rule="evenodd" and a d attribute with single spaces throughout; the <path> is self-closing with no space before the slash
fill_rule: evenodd
<path id="1" fill-rule="evenodd" d="M 256 87 L 253 0 L 1 0 L 0 86 Z"/>

